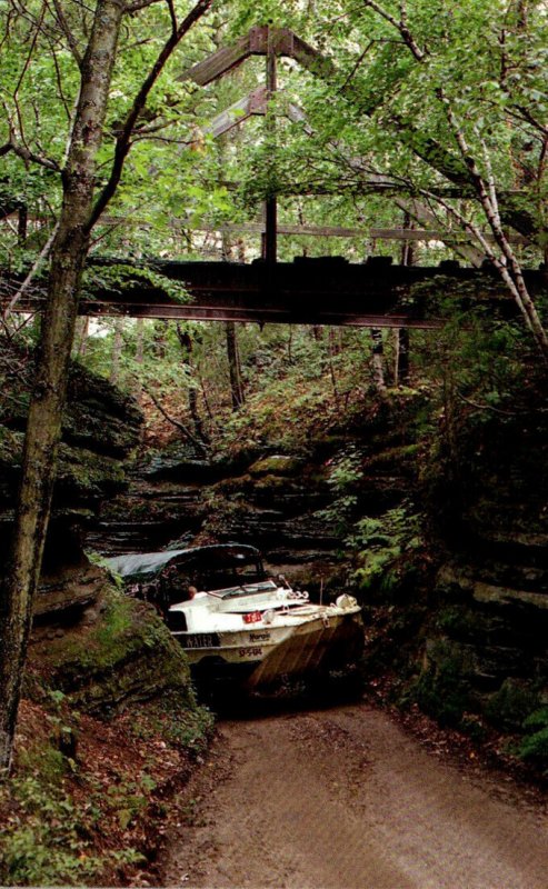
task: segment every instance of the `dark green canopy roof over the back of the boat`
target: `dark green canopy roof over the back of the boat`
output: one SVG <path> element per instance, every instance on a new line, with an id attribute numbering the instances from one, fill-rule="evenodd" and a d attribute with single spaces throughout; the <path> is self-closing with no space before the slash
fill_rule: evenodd
<path id="1" fill-rule="evenodd" d="M 126 581 L 136 583 L 150 583 L 171 566 L 188 568 L 192 572 L 210 573 L 252 563 L 259 572 L 262 571 L 259 550 L 246 543 L 217 543 L 162 552 L 129 552 L 104 561 L 111 571 Z"/>

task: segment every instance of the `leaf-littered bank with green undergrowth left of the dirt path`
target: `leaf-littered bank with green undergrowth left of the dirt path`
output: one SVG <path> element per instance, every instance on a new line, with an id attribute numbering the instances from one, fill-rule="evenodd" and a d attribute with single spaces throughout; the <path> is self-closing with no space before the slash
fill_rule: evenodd
<path id="1" fill-rule="evenodd" d="M 71 710 L 61 692 L 23 700 L 0 787 L 0 883 L 139 885 L 211 731 L 209 711 L 177 692 L 108 722 Z"/>

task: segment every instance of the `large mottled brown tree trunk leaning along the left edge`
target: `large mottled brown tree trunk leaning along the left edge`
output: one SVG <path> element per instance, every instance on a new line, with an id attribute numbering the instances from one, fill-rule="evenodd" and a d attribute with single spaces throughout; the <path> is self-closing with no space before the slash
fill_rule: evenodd
<path id="1" fill-rule="evenodd" d="M 63 204 L 51 252 L 48 304 L 24 441 L 9 578 L 0 610 L 0 769 L 9 769 L 32 601 L 51 508 L 80 280 L 88 252 L 96 157 L 123 13 L 98 0 L 63 171 Z"/>

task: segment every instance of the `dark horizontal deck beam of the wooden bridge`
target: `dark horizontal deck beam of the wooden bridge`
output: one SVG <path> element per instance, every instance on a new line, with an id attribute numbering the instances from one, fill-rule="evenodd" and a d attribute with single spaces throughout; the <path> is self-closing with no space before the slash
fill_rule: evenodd
<path id="1" fill-rule="evenodd" d="M 116 262 L 91 260 L 99 272 Z M 495 270 L 461 268 L 454 261 L 434 268 L 392 266 L 383 257 L 362 264 L 339 257 L 251 264 L 157 260 L 123 269 L 121 284 L 93 287 L 93 298 L 83 297 L 81 314 L 435 328 L 442 322 L 440 306 L 448 300 L 461 310 L 480 303 L 500 317 L 516 312 Z M 149 269 L 155 272 L 153 283 Z M 162 288 L 162 278 L 182 286 L 180 298 L 170 294 L 169 286 Z M 546 272 L 529 271 L 526 278 L 531 293 L 548 290 Z M 17 310 L 39 310 L 42 298 L 27 294 Z"/>

